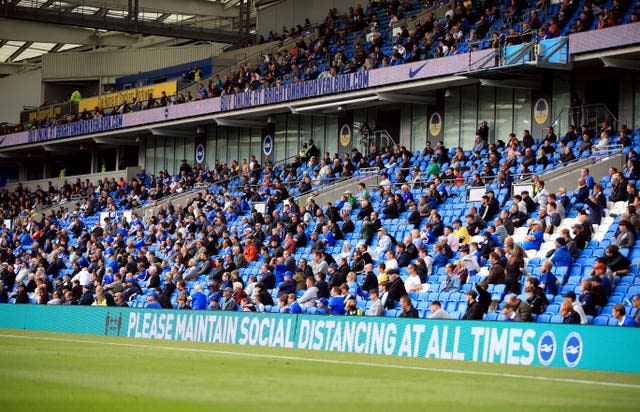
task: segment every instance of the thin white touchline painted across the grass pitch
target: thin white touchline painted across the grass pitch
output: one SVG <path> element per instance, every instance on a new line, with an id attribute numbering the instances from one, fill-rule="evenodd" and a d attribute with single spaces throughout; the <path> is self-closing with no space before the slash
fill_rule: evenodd
<path id="1" fill-rule="evenodd" d="M 16 338 L 16 339 L 48 340 L 48 341 L 71 342 L 71 343 L 88 343 L 93 345 L 110 345 L 110 346 L 120 346 L 120 347 L 127 347 L 127 348 L 144 348 L 144 349 L 172 350 L 172 351 L 182 351 L 182 352 L 212 353 L 212 354 L 218 354 L 218 355 L 246 356 L 251 358 L 268 358 L 268 359 L 292 360 L 292 361 L 302 361 L 302 362 L 327 363 L 327 364 L 335 364 L 335 365 L 367 366 L 367 367 L 376 367 L 376 368 L 404 369 L 404 370 L 416 370 L 416 371 L 425 371 L 425 372 L 442 372 L 442 373 L 452 373 L 452 374 L 460 374 L 460 375 L 492 376 L 492 377 L 509 378 L 509 379 L 523 378 L 523 379 L 534 379 L 538 381 L 547 381 L 547 382 L 574 383 L 577 385 L 613 386 L 613 387 L 619 387 L 619 388 L 640 389 L 640 385 L 634 385 L 630 383 L 599 382 L 599 381 L 589 381 L 589 380 L 583 380 L 583 379 L 554 378 L 550 376 L 519 375 L 515 373 L 479 372 L 479 371 L 468 371 L 468 370 L 461 370 L 461 369 L 428 368 L 428 367 L 422 367 L 422 366 L 392 365 L 392 364 L 381 364 L 381 363 L 371 363 L 371 362 L 341 361 L 341 360 L 333 360 L 333 359 L 303 358 L 300 356 L 286 356 L 286 355 L 265 355 L 261 353 L 232 352 L 232 351 L 215 350 L 215 349 L 181 348 L 177 346 L 164 346 L 164 345 L 158 345 L 158 346 L 144 345 L 141 343 L 100 342 L 100 341 L 83 340 L 83 339 L 51 338 L 51 337 L 45 337 L 45 336 L 0 334 L 0 337 Z"/>

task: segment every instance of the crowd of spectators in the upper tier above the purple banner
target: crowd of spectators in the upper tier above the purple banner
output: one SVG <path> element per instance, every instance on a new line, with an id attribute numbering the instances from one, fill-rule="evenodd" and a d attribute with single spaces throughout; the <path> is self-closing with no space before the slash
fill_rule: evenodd
<path id="1" fill-rule="evenodd" d="M 640 5 L 632 0 L 615 0 L 610 9 L 603 9 L 601 2 L 587 1 L 580 14 L 574 16 L 578 2 L 570 0 L 563 1 L 558 7 L 547 5 L 545 0 L 536 4 L 527 0 L 467 0 L 458 2 L 455 7 L 448 6 L 442 19 L 437 19 L 430 12 L 415 24 L 413 30 L 409 30 L 405 19 L 438 4 L 432 0 L 424 3 L 411 0 L 371 1 L 366 8 L 360 4 L 349 7 L 344 15 L 331 9 L 325 20 L 317 25 L 318 35 L 315 38 L 301 35 L 308 33 L 311 27 L 307 19 L 304 27 L 298 25 L 291 30 L 283 27 L 281 33 L 268 33 L 267 41 L 299 36 L 289 49 L 283 46 L 275 53 L 262 55 L 256 62 L 247 62 L 238 71 L 222 77 L 216 74 L 208 81 L 201 82 L 203 79 L 199 70 L 193 69 L 187 76 L 198 84 L 196 93 L 185 91 L 160 98 L 149 96 L 145 101 L 134 99 L 106 110 L 96 107 L 92 111 L 57 115 L 27 125 L 19 124 L 15 128 L 5 127 L 0 131 L 13 133 L 25 128 L 56 126 L 110 114 L 124 114 L 466 53 L 479 48 L 500 48 L 536 38 L 544 40 L 569 32 L 637 22 L 636 11 L 629 14 L 628 20 L 625 16 L 632 7 L 634 10 L 640 9 Z M 598 24 L 593 27 L 596 20 Z"/>

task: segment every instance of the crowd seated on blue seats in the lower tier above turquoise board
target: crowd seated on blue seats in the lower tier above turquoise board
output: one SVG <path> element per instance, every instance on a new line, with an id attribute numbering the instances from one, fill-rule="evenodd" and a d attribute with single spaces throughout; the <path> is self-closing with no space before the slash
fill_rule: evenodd
<path id="1" fill-rule="evenodd" d="M 596 143 L 595 135 L 630 146 L 630 131 L 621 129 L 616 136 L 604 123 L 597 132 L 583 130 L 583 138 L 593 133 Z M 592 249 L 594 225 L 602 224 L 607 201 L 625 202 L 615 233 L 597 245 L 602 255 L 594 256 L 576 287 L 562 295 L 563 321 L 586 323 L 587 316 L 597 316 L 607 305 L 616 282 L 635 274 L 627 255 L 640 230 L 638 154 L 627 148 L 624 170 L 612 169 L 603 178 L 610 188 L 583 169 L 573 191 L 549 193 L 536 180 L 532 193 L 509 193 L 508 200 L 499 200 L 497 193 L 511 189 L 511 174 L 500 168 L 512 157 L 516 164 L 525 162 L 527 150 L 537 144 L 526 131 L 522 139 L 512 134 L 508 143 L 489 145 L 487 140 L 488 124 L 483 122 L 468 152 L 448 150 L 440 142 L 419 154 L 404 147 L 374 148 L 368 158 L 353 152 L 342 162 L 323 158 L 318 163 L 320 153 L 312 145 L 281 168 L 260 168 L 255 158 L 227 168 L 218 163 L 211 170 L 184 162 L 176 178 L 194 182 L 237 176 L 248 186 L 233 196 L 228 180 L 214 183 L 186 206 L 169 205 L 146 221 L 135 214 L 129 221 L 114 210 L 103 224 L 91 227 L 83 219 L 87 206 L 80 213 L 60 216 L 52 211 L 42 221 L 26 218 L 13 230 L 4 228 L 0 302 L 369 316 L 395 316 L 389 311 L 398 310 L 399 316 L 417 317 L 425 310 L 416 308 L 420 294 L 457 294 L 460 299 L 464 292 L 466 301 L 457 310 L 464 312 L 462 319 L 483 319 L 500 310 L 501 319 L 531 321 L 574 282 L 572 266 L 582 269 L 576 262 Z M 560 161 L 554 152 L 563 146 L 575 149 L 578 140 L 572 130 L 562 138 L 549 130 L 540 147 L 550 147 L 544 150 L 554 163 Z M 421 165 L 424 159 L 430 163 Z M 476 160 L 469 163 L 471 159 Z M 323 168 L 342 172 L 351 162 L 354 168 L 380 162 L 385 171 L 397 172 L 383 172 L 377 187 L 362 183 L 357 193 L 345 192 L 324 206 L 313 198 L 298 205 L 282 181 L 298 169 L 308 178 Z M 480 204 L 460 210 L 461 218 L 441 215 L 445 206 L 461 200 L 455 198 L 456 187 L 469 183 L 456 179 L 460 171 L 471 173 L 472 184 L 488 190 Z M 66 184 L 60 191 L 40 191 L 37 198 L 93 192 L 104 207 L 116 202 L 106 189 L 117 188 L 120 199 L 129 199 L 138 190 L 136 182 L 95 188 Z M 253 208 L 255 201 L 265 202 L 264 213 Z M 571 230 L 561 229 L 570 215 Z M 408 233 L 396 238 L 404 234 L 395 223 L 401 217 Z M 519 228 L 526 228 L 526 234 L 519 237 Z M 549 259 L 534 258 L 549 239 Z M 433 316 L 452 316 L 444 302 L 428 302 Z M 633 305 L 640 306 L 640 297 L 633 298 Z M 621 325 L 633 321 L 625 314 L 628 306 L 612 308 Z"/>

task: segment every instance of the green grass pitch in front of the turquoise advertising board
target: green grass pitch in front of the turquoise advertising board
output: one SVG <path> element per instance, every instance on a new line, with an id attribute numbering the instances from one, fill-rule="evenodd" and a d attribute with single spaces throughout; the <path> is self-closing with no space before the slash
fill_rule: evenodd
<path id="1" fill-rule="evenodd" d="M 640 386 L 527 376 L 640 385 L 631 374 L 0 329 L 3 411 L 638 410 Z"/>

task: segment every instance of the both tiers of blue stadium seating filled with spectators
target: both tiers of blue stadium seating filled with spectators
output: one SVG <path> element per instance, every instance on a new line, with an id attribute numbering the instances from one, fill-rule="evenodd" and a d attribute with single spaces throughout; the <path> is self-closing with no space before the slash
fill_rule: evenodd
<path id="1" fill-rule="evenodd" d="M 632 2 L 539 3 L 332 10 L 313 42 L 301 37 L 201 83 L 195 98 L 178 92 L 113 114 L 637 22 Z M 422 7 L 448 9 L 416 19 L 411 32 L 380 29 Z M 413 152 L 392 144 L 332 155 L 309 140 L 275 163 L 185 160 L 175 174 L 1 189 L 13 227 L 0 236 L 0 302 L 629 326 L 640 322 L 640 129 L 592 126 L 489 143 L 495 125 L 483 122 L 468 147 L 439 141 Z M 581 167 L 574 187 L 549 189 L 558 170 L 620 157 L 620 170 Z M 375 185 L 316 203 L 372 173 Z M 514 192 L 514 183 L 530 189 Z M 136 212 L 181 193 L 193 197 Z M 77 204 L 56 207 L 65 199 Z M 41 220 L 31 215 L 44 208 Z"/>

